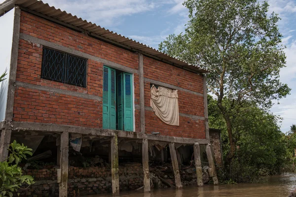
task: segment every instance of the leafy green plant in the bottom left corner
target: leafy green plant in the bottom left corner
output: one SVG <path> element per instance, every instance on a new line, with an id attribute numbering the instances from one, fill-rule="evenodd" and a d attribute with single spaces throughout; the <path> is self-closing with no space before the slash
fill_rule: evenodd
<path id="1" fill-rule="evenodd" d="M 16 143 L 9 145 L 11 152 L 7 161 L 0 162 L 0 197 L 12 197 L 13 192 L 16 192 L 20 186 L 34 183 L 32 176 L 23 175 L 22 168 L 18 164 L 22 160 L 26 160 L 27 156 L 32 156 L 32 149 Z"/>

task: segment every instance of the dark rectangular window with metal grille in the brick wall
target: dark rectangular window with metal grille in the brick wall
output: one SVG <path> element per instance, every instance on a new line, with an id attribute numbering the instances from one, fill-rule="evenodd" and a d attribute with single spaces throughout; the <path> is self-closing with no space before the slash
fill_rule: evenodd
<path id="1" fill-rule="evenodd" d="M 86 87 L 86 59 L 43 48 L 41 78 Z"/>

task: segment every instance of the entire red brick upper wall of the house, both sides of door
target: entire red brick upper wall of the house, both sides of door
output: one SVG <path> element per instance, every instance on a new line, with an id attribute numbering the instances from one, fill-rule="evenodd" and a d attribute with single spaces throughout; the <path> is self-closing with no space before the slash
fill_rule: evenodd
<path id="1" fill-rule="evenodd" d="M 21 12 L 20 33 L 72 48 L 105 60 L 138 69 L 138 54 L 115 47 L 83 33 L 77 33 L 34 15 Z M 88 60 L 86 88 L 40 78 L 42 45 L 20 39 L 16 81 L 53 87 L 102 97 L 103 63 Z M 203 94 L 202 76 L 144 57 L 144 77 Z M 139 75 L 134 74 L 135 104 L 140 99 Z M 145 83 L 145 105 L 149 106 L 149 83 Z M 203 97 L 178 91 L 180 113 L 204 116 Z M 16 88 L 14 121 L 102 127 L 102 102 L 28 88 Z M 140 131 L 140 113 L 135 110 L 136 131 Z M 146 111 L 146 130 L 162 135 L 205 138 L 204 121 L 180 117 L 180 126 L 168 126 L 151 111 Z"/>

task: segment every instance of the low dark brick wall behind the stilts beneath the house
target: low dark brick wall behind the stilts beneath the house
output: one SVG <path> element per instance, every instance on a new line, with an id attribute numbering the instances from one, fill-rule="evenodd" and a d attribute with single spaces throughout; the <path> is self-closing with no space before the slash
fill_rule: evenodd
<path id="1" fill-rule="evenodd" d="M 35 184 L 20 190 L 21 197 L 58 196 L 57 172 L 53 166 L 46 169 L 27 169 L 24 174 L 34 177 Z M 135 190 L 143 186 L 142 164 L 119 166 L 120 191 Z M 111 169 L 109 167 L 69 167 L 68 196 L 95 195 L 111 192 Z"/>

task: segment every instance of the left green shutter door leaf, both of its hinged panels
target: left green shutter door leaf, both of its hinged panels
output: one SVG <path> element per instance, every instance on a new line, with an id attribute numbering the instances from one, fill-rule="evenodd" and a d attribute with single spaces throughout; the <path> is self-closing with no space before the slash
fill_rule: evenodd
<path id="1" fill-rule="evenodd" d="M 116 130 L 115 70 L 103 68 L 103 129 Z"/>

